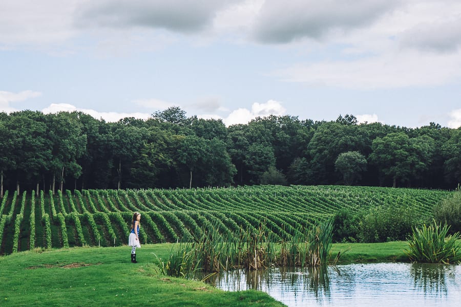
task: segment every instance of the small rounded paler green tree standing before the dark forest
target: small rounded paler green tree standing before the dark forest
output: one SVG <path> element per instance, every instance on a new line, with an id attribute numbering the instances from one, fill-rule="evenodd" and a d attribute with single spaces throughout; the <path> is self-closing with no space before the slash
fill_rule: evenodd
<path id="1" fill-rule="evenodd" d="M 353 185 L 362 178 L 362 172 L 367 169 L 367 160 L 359 151 L 347 151 L 338 156 L 334 167 L 343 174 L 345 185 Z"/>

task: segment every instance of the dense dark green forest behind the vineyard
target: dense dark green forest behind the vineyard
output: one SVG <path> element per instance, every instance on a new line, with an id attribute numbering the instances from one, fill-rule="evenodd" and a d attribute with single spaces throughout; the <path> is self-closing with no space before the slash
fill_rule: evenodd
<path id="1" fill-rule="evenodd" d="M 21 111 L 0 113 L 0 171 L 1 195 L 254 184 L 454 189 L 461 128 L 358 124 L 351 115 L 269 116 L 226 127 L 178 107 L 118 122 Z"/>

